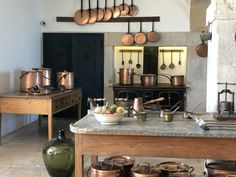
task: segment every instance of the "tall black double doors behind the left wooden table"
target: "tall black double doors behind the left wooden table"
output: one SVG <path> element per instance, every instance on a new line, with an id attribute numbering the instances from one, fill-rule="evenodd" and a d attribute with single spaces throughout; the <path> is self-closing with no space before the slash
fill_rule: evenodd
<path id="1" fill-rule="evenodd" d="M 86 115 L 87 98 L 103 97 L 104 34 L 43 33 L 43 66 L 52 68 L 55 87 L 57 72 L 74 72 L 74 85 L 82 88 L 82 116 Z"/>

